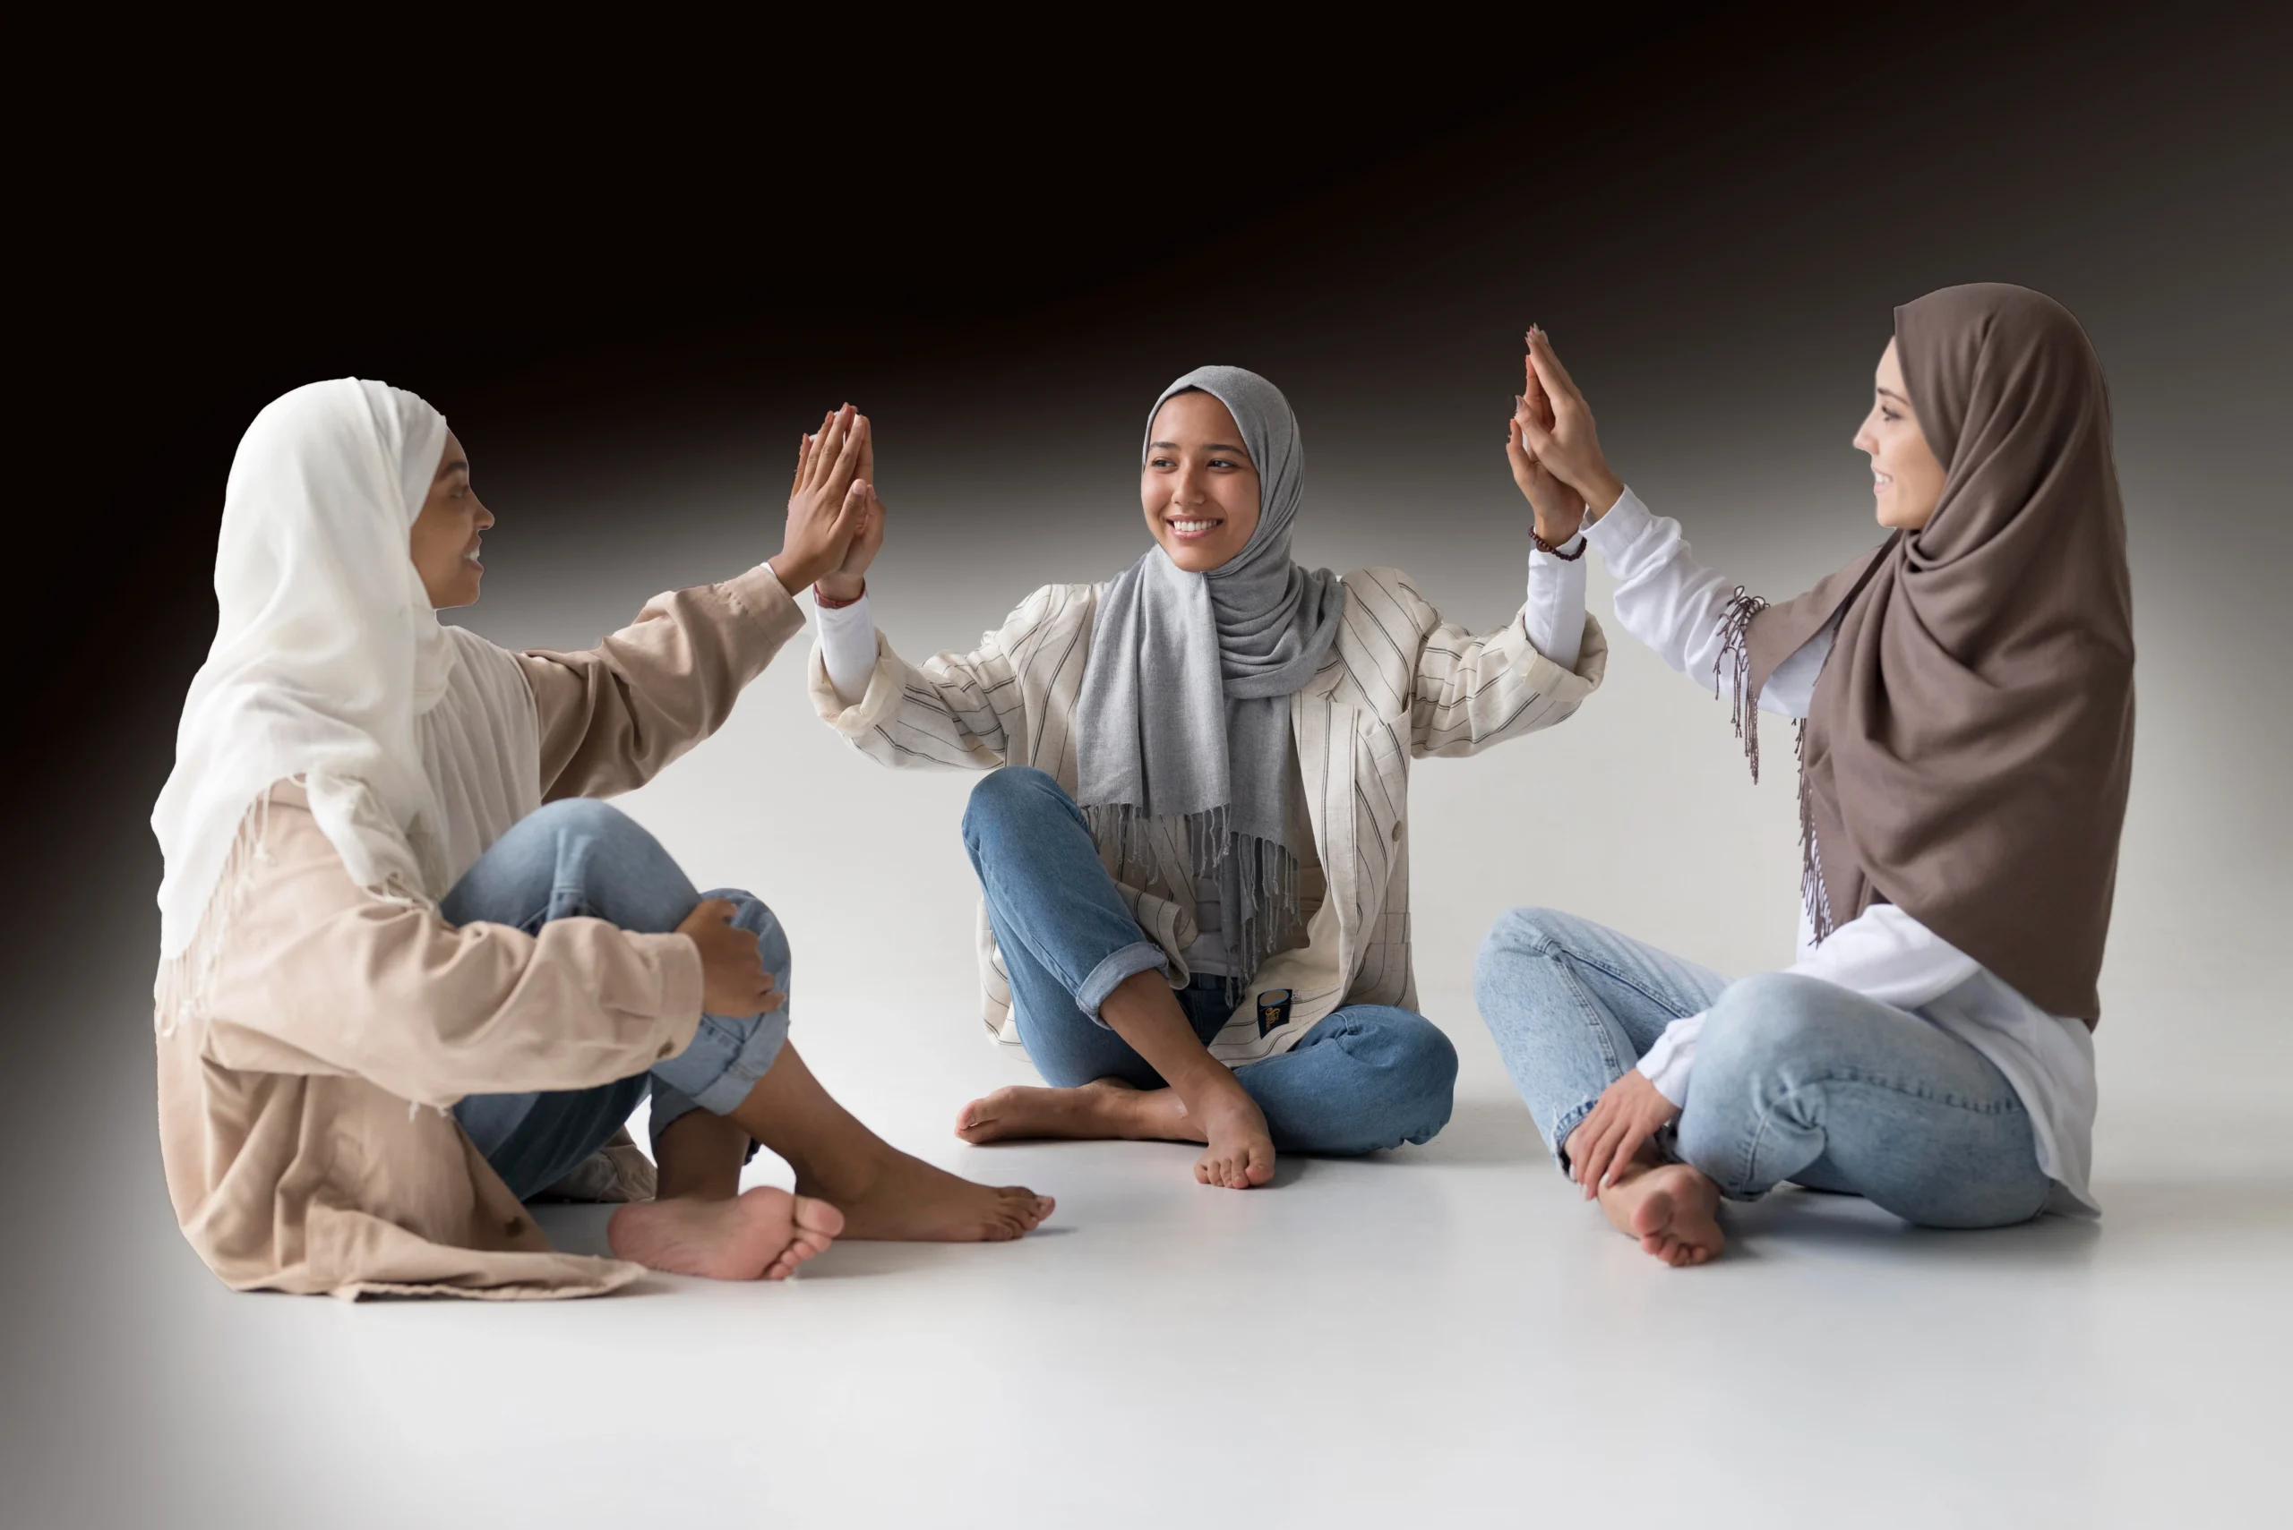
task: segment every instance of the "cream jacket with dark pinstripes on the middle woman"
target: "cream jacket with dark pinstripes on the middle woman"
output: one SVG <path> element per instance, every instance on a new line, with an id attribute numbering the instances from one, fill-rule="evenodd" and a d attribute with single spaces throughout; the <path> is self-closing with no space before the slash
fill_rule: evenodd
<path id="1" fill-rule="evenodd" d="M 1525 614 L 1474 637 L 1445 623 L 1408 575 L 1362 568 L 1344 577 L 1346 618 L 1330 657 L 1291 696 L 1325 891 L 1307 944 L 1270 957 L 1211 1054 L 1238 1065 L 1286 1051 L 1346 1003 L 1415 1008 L 1410 971 L 1408 804 L 1415 756 L 1474 754 L 1548 728 L 1582 705 L 1607 669 L 1601 625 L 1584 618 L 1575 673 L 1529 646 Z M 860 754 L 883 765 L 995 770 L 1032 765 L 1078 790 L 1075 696 L 1091 650 L 1103 584 L 1046 584 L 975 653 L 908 664 L 876 632 L 867 694 L 844 705 L 812 650 L 812 703 Z M 1121 884 L 1140 928 L 1185 983 L 1195 941 L 1192 875 L 1176 831 L 1151 845 L 1153 875 Z M 1312 893 L 1312 886 L 1307 886 Z M 1002 953 L 979 905 L 981 1019 L 1018 1042 Z M 1261 1028 L 1254 994 L 1293 992 L 1289 1022 Z"/>

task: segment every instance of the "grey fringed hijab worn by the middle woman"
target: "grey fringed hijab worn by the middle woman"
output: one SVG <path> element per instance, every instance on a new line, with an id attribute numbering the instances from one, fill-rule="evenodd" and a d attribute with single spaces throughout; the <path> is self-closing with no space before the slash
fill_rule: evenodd
<path id="1" fill-rule="evenodd" d="M 1192 575 L 1160 545 L 1098 600 L 1075 703 L 1080 806 L 1117 868 L 1144 859 L 1142 822 L 1179 820 L 1195 875 L 1218 877 L 1227 944 L 1245 971 L 1298 916 L 1289 843 L 1289 696 L 1321 669 L 1346 609 L 1328 568 L 1291 561 L 1305 449 L 1289 399 L 1241 366 L 1197 366 L 1163 389 L 1227 405 L 1259 470 L 1259 527 L 1224 566 Z"/>

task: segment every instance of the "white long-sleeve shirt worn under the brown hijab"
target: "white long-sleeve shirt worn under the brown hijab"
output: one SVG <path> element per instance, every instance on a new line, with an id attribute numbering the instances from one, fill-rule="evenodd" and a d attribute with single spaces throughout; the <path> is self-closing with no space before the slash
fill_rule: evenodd
<path id="1" fill-rule="evenodd" d="M 1681 522 L 1651 515 L 1633 490 L 1587 541 L 1617 577 L 1617 621 L 1672 669 L 1699 685 L 1724 678 L 1722 614 L 1734 584 L 1697 563 Z M 1759 705 L 1779 717 L 1807 717 L 1832 630 L 1811 637 L 1775 667 Z M 1798 960 L 1789 969 L 1878 999 L 1940 1026 L 1983 1054 L 2029 1111 L 2038 1168 L 2057 1184 L 2048 1209 L 2098 1212 L 2087 1186 L 2094 1164 L 2094 1035 L 2084 1022 L 2048 1015 L 1997 973 L 1958 951 L 1894 905 L 1873 905 L 1839 925 L 1821 946 L 1800 912 Z M 1685 1106 L 1704 1015 L 1672 1022 L 1639 1072 L 1672 1104 Z"/>

